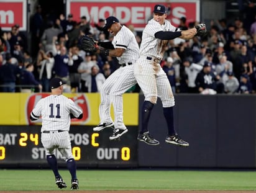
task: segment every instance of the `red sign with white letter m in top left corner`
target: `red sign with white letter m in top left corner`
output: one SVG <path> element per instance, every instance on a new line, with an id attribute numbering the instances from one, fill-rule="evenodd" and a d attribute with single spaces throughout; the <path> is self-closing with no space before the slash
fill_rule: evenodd
<path id="1" fill-rule="evenodd" d="M 20 30 L 27 30 L 27 1 L 0 0 L 0 27 L 9 31 L 18 24 Z"/>

